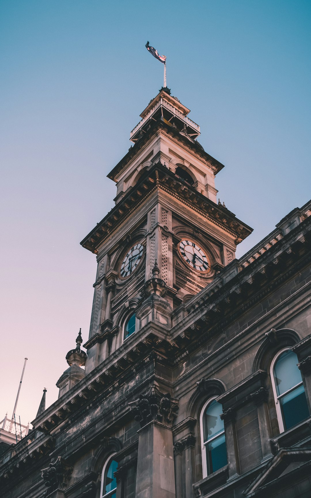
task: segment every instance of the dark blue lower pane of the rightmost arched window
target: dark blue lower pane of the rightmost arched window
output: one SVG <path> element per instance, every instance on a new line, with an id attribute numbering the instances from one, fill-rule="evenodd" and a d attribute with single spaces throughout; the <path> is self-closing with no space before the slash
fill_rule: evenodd
<path id="1" fill-rule="evenodd" d="M 306 393 L 303 385 L 280 398 L 285 429 L 290 429 L 309 417 Z"/>

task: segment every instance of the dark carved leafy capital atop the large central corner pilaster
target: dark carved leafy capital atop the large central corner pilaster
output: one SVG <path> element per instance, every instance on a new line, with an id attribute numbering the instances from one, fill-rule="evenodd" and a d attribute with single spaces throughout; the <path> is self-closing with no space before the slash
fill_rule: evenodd
<path id="1" fill-rule="evenodd" d="M 177 416 L 177 401 L 172 399 L 169 393 L 162 394 L 154 386 L 147 394 L 140 394 L 136 401 L 128 404 L 135 420 L 140 423 L 140 427 L 153 420 L 172 427 L 173 420 Z"/>

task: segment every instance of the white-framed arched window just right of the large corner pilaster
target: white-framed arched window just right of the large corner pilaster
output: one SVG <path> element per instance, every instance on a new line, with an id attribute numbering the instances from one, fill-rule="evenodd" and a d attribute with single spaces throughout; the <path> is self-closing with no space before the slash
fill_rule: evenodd
<path id="1" fill-rule="evenodd" d="M 216 399 L 207 401 L 200 417 L 203 477 L 227 465 L 222 408 Z"/>

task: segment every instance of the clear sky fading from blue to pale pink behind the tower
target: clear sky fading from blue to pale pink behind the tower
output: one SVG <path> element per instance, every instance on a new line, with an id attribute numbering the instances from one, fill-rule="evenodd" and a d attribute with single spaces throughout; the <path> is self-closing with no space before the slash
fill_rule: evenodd
<path id="1" fill-rule="evenodd" d="M 254 228 L 241 257 L 311 198 L 311 2 L 0 0 L 0 420 L 47 406 L 82 328 L 114 206 L 107 173 L 167 84 L 225 165 L 218 197 Z"/>

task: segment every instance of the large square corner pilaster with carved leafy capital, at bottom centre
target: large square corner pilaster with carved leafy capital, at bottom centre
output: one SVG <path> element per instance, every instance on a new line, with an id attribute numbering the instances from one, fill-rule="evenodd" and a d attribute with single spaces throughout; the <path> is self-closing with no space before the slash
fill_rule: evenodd
<path id="1" fill-rule="evenodd" d="M 138 431 L 136 498 L 176 498 L 172 424 L 178 404 L 155 386 L 129 403 Z"/>

